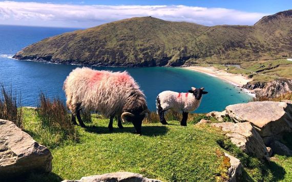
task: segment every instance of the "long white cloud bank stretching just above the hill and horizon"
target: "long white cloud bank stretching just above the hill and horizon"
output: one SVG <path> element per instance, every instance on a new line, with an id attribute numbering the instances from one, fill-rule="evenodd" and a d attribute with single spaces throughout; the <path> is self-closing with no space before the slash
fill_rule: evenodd
<path id="1" fill-rule="evenodd" d="M 183 5 L 71 5 L 33 2 L 0 2 L 0 24 L 54 27 L 93 27 L 114 20 L 154 16 L 172 21 L 213 25 L 253 25 L 267 14 L 225 8 Z"/>

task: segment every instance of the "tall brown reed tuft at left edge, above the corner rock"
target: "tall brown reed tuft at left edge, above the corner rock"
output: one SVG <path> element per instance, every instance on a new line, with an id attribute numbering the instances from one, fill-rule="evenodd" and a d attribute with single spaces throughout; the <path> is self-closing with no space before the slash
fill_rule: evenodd
<path id="1" fill-rule="evenodd" d="M 17 127 L 23 129 L 23 108 L 21 96 L 12 92 L 12 86 L 5 88 L 0 84 L 0 119 L 12 121 Z"/>

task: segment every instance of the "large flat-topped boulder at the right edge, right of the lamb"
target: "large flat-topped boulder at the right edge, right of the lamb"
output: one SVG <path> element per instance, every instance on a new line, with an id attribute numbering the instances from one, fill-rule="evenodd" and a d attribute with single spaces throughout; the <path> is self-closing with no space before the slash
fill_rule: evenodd
<path id="1" fill-rule="evenodd" d="M 292 131 L 292 104 L 274 101 L 249 102 L 229 105 L 226 112 L 235 122 L 251 122 L 263 138 Z"/>

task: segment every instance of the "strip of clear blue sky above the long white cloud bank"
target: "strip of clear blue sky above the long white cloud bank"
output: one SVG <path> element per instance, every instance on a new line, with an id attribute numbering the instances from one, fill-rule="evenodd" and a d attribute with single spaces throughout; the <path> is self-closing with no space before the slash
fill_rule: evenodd
<path id="1" fill-rule="evenodd" d="M 80 0 L 68 0 L 68 1 L 55 1 L 55 0 L 26 0 L 18 2 L 40 2 L 40 3 L 57 3 L 57 4 L 85 4 L 85 5 L 186 5 L 186 6 L 199 6 L 206 8 L 227 8 L 236 9 L 246 12 L 262 12 L 262 13 L 276 13 L 279 11 L 284 11 L 292 9 L 291 0 L 195 0 L 195 1 L 174 1 L 174 0 L 164 0 L 164 1 L 80 1 Z"/>

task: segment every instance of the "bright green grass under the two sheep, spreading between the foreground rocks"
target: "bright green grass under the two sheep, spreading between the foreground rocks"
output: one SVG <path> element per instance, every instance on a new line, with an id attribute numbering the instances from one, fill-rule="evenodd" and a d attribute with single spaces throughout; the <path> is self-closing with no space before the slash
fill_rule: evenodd
<path id="1" fill-rule="evenodd" d="M 25 109 L 24 113 L 25 130 L 36 133 L 38 125 L 35 111 Z M 143 124 L 143 135 L 140 136 L 133 134 L 132 124 L 123 124 L 124 129 L 119 129 L 116 121 L 114 132 L 110 133 L 108 119 L 94 117 L 92 123 L 87 123 L 87 128 L 77 126 L 79 141 L 55 142 L 49 147 L 54 157 L 52 173 L 32 173 L 27 179 L 60 181 L 128 171 L 162 181 L 223 181 L 227 179 L 226 172 L 230 165 L 223 155 L 224 151 L 240 158 L 244 166 L 243 179 L 246 181 L 292 179 L 292 171 L 289 170 L 291 164 L 286 164 L 282 158 L 279 158 L 279 162 L 265 164 L 244 154 L 225 139 L 220 130 L 193 124 L 201 118 L 204 118 L 203 115 L 192 116 L 187 127 L 179 126 L 178 121 L 170 121 L 167 126 L 160 123 Z M 44 137 L 37 134 L 32 136 L 38 142 Z M 54 137 L 48 140 L 54 141 Z M 274 171 L 283 170 L 286 173 L 274 174 Z"/>

